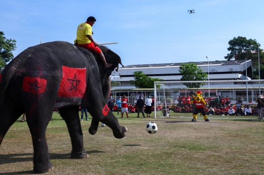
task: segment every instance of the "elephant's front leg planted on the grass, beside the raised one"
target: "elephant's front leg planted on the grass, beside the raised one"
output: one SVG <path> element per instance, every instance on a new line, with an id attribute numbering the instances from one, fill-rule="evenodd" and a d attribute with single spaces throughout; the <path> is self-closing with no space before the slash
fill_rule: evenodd
<path id="1" fill-rule="evenodd" d="M 79 118 L 79 106 L 66 106 L 59 108 L 61 117 L 66 122 L 71 139 L 71 158 L 85 158 L 88 154 L 84 149 L 83 132 Z"/>

